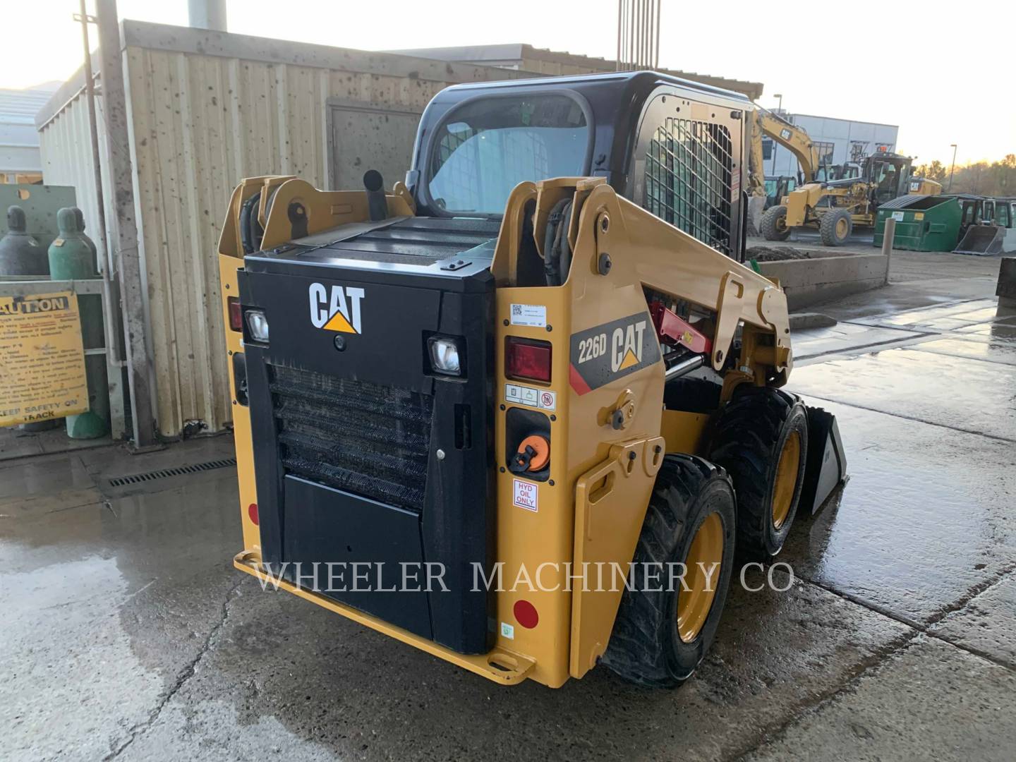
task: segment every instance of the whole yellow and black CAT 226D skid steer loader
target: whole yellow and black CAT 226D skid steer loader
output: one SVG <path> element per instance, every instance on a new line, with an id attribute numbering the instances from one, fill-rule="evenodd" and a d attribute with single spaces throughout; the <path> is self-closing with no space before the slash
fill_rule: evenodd
<path id="1" fill-rule="evenodd" d="M 843 479 L 740 263 L 741 97 L 460 85 L 406 183 L 245 180 L 219 244 L 238 568 L 502 684 L 688 679 Z"/>

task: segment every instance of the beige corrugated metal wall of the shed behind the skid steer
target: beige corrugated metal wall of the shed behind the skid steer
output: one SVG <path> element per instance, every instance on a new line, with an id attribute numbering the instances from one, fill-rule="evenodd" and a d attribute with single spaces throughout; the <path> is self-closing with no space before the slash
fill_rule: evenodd
<path id="1" fill-rule="evenodd" d="M 232 418 L 215 249 L 244 177 L 327 187 L 328 98 L 423 110 L 444 83 L 128 48 L 158 428 Z M 393 178 L 394 179 L 394 178 Z"/>

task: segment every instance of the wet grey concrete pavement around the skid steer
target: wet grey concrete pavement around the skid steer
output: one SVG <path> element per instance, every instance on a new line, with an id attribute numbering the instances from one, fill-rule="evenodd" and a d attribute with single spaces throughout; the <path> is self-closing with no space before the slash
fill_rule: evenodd
<path id="1" fill-rule="evenodd" d="M 0 757 L 1016 758 L 1016 321 L 939 279 L 796 335 L 850 480 L 678 691 L 498 687 L 235 571 L 232 467 L 110 482 L 227 437 L 0 462 Z"/>

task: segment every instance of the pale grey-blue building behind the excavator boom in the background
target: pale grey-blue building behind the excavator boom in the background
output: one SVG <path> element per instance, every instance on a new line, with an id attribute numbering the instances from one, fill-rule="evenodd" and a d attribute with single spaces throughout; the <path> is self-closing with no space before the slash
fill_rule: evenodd
<path id="1" fill-rule="evenodd" d="M 896 149 L 899 133 L 896 125 L 816 117 L 810 114 L 781 113 L 780 116 L 807 130 L 820 155 L 829 165 L 847 162 L 860 164 L 865 156 L 875 153 L 883 146 L 888 151 Z M 762 155 L 767 176 L 792 177 L 798 174 L 798 160 L 770 138 L 762 141 Z"/>

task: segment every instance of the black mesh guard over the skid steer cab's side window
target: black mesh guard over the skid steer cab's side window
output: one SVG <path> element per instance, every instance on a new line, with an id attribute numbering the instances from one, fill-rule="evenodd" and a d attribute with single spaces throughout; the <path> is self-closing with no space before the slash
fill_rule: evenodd
<path id="1" fill-rule="evenodd" d="M 649 143 L 645 169 L 645 208 L 727 255 L 732 151 L 723 125 L 668 117 Z"/>

